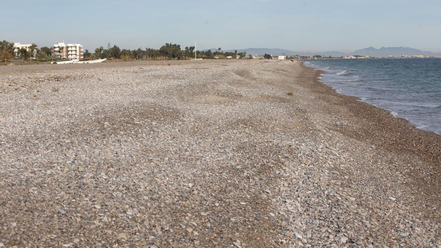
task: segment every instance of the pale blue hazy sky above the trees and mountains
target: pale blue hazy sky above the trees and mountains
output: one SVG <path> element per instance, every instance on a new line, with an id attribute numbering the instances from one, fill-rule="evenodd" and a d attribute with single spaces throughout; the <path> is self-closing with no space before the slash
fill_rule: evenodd
<path id="1" fill-rule="evenodd" d="M 65 41 L 95 50 L 281 48 L 352 52 L 412 47 L 441 52 L 439 0 L 2 1 L 0 40 Z M 5 20 L 6 23 L 5 23 Z"/>

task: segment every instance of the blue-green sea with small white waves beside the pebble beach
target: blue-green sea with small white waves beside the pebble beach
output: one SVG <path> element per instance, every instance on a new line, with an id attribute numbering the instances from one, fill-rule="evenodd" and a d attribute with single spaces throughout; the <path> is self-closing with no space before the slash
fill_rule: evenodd
<path id="1" fill-rule="evenodd" d="M 341 94 L 441 134 L 441 59 L 305 61 L 325 71 L 321 81 Z"/>

